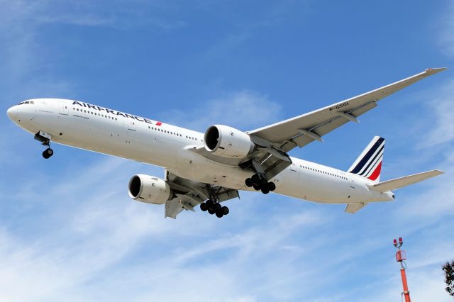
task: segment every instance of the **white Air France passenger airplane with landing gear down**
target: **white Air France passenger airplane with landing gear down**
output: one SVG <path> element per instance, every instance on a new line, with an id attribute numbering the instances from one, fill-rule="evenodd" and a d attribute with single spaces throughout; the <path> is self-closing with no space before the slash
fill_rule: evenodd
<path id="1" fill-rule="evenodd" d="M 163 179 L 136 174 L 133 200 L 165 204 L 165 218 L 183 210 L 228 215 L 221 202 L 238 191 L 270 191 L 316 203 L 343 203 L 356 213 L 368 203 L 393 201 L 393 190 L 443 174 L 431 170 L 380 181 L 384 138 L 376 136 L 346 172 L 289 156 L 295 147 L 323 142 L 323 135 L 377 106 L 378 101 L 446 68 L 419 74 L 286 121 L 243 132 L 211 125 L 205 133 L 68 99 L 28 99 L 8 109 L 13 123 L 45 146 L 51 142 L 101 152 L 165 169 Z"/>

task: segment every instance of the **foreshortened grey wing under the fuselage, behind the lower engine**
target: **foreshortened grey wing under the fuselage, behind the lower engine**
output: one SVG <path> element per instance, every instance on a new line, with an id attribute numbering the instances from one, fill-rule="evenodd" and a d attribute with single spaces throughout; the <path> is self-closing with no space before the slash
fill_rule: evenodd
<path id="1" fill-rule="evenodd" d="M 176 219 L 183 210 L 194 212 L 195 206 L 213 196 L 219 202 L 239 197 L 238 191 L 235 189 L 184 179 L 169 171 L 165 172 L 165 180 L 174 194 L 172 199 L 165 202 L 165 217 Z"/>

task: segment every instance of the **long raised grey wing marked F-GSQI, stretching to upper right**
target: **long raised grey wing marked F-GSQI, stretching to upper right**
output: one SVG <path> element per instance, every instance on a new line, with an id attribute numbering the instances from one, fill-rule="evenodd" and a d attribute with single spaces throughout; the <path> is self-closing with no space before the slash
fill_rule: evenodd
<path id="1" fill-rule="evenodd" d="M 399 82 L 248 133 L 251 137 L 255 136 L 272 142 L 278 150 L 284 152 L 297 146 L 304 147 L 314 140 L 322 141 L 323 135 L 349 121 L 358 122 L 358 116 L 375 108 L 377 101 L 384 97 L 445 69 L 426 69 Z"/>

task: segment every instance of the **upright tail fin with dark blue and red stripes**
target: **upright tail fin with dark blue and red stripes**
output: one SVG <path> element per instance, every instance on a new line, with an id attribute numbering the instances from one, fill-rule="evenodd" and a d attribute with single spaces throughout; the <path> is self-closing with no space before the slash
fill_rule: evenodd
<path id="1" fill-rule="evenodd" d="M 377 183 L 382 172 L 384 138 L 375 136 L 361 155 L 353 162 L 348 172 L 357 174 Z"/>

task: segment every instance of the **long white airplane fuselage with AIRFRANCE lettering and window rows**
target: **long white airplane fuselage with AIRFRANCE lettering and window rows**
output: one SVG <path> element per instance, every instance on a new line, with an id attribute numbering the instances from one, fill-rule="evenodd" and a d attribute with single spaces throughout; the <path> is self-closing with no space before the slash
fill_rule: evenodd
<path id="1" fill-rule="evenodd" d="M 31 104 L 33 101 L 33 104 Z M 79 101 L 33 99 L 13 106 L 21 128 L 43 131 L 52 142 L 164 167 L 194 181 L 248 190 L 252 172 L 220 164 L 194 152 L 204 134 Z M 371 191 L 367 179 L 292 157 L 292 165 L 270 181 L 275 193 L 319 203 L 391 201 L 392 193 Z"/>

